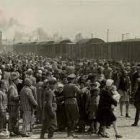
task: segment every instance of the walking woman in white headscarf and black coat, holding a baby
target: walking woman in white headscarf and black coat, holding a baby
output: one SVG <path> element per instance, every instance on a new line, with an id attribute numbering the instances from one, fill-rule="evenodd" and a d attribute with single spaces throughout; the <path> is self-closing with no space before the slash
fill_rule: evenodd
<path id="1" fill-rule="evenodd" d="M 109 134 L 106 132 L 106 127 L 116 121 L 116 117 L 111 108 L 112 105 L 117 106 L 117 101 L 113 99 L 111 93 L 112 84 L 113 80 L 108 79 L 106 81 L 106 88 L 101 91 L 97 110 L 97 121 L 100 123 L 98 135 L 107 138 L 109 138 Z M 118 137 L 117 134 L 116 137 Z"/>

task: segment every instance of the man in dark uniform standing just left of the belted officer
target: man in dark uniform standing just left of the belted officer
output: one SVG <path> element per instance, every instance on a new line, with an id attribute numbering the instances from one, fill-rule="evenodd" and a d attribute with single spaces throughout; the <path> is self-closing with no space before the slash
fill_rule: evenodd
<path id="1" fill-rule="evenodd" d="M 49 79 L 48 84 L 49 87 L 44 91 L 44 109 L 43 109 L 43 124 L 41 129 L 40 138 L 44 139 L 44 135 L 48 130 L 48 138 L 53 138 L 54 131 L 57 129 L 57 118 L 56 118 L 56 97 L 55 97 L 55 89 L 56 89 L 56 79 Z"/>

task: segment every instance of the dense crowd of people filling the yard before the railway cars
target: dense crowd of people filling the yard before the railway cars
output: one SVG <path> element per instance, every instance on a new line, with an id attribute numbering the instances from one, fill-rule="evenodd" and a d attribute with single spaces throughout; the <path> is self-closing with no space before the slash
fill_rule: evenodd
<path id="1" fill-rule="evenodd" d="M 117 130 L 115 108 L 129 116 L 129 103 L 140 113 L 140 64 L 114 60 L 62 59 L 36 55 L 0 56 L 0 133 L 29 137 L 35 124 L 40 138 L 55 131 L 95 133 L 109 138 Z M 22 129 L 19 121 L 23 120 Z"/>

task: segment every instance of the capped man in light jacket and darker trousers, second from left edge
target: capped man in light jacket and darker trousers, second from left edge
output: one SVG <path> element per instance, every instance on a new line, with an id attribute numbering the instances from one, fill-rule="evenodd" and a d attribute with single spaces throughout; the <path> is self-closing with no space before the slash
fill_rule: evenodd
<path id="1" fill-rule="evenodd" d="M 19 135 L 19 94 L 17 84 L 19 83 L 19 74 L 12 72 L 10 77 L 10 87 L 8 89 L 8 111 L 9 111 L 9 131 L 10 136 Z"/>

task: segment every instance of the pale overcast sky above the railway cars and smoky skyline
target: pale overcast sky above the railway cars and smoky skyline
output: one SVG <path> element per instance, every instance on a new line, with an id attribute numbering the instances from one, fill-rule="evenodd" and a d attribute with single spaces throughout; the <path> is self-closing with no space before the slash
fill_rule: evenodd
<path id="1" fill-rule="evenodd" d="M 13 18 L 8 25 L 9 19 Z M 42 27 L 49 35 L 56 32 L 73 38 L 83 36 L 106 41 L 140 37 L 140 0 L 0 0 L 0 28 L 4 37 L 12 38 L 17 30 L 31 32 Z"/>

